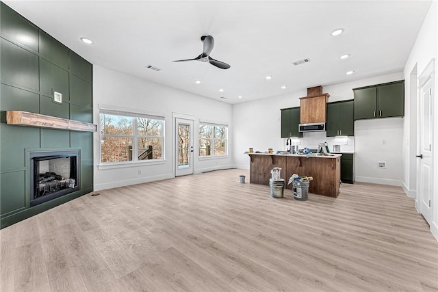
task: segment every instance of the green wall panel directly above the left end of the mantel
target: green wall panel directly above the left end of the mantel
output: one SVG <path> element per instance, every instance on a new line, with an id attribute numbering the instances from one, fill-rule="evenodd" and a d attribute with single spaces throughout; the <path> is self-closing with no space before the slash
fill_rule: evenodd
<path id="1" fill-rule="evenodd" d="M 40 112 L 39 94 L 0 84 L 0 95 L 1 122 L 3 123 L 6 122 L 5 111 Z"/>

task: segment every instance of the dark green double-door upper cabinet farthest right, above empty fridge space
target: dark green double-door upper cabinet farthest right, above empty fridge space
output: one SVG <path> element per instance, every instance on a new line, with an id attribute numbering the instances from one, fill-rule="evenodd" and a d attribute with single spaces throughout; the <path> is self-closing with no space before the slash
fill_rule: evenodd
<path id="1" fill-rule="evenodd" d="M 354 88 L 355 120 L 404 116 L 404 80 Z"/>

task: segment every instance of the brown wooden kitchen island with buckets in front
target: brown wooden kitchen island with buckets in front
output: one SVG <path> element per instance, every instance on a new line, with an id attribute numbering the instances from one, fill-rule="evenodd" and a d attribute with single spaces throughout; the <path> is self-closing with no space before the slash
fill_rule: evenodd
<path id="1" fill-rule="evenodd" d="M 250 183 L 269 185 L 272 168 L 281 168 L 281 178 L 285 179 L 287 189 L 292 189 L 292 184 L 287 185 L 292 174 L 300 176 L 313 176 L 310 182 L 309 193 L 337 198 L 341 179 L 342 154 L 306 155 L 274 154 L 274 153 L 248 153 L 250 157 Z"/>

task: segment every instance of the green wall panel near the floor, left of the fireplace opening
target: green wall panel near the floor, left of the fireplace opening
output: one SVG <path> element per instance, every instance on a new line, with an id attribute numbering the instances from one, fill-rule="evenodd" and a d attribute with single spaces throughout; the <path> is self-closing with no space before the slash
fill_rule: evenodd
<path id="1" fill-rule="evenodd" d="M 1 214 L 23 209 L 26 205 L 25 171 L 4 172 L 0 174 Z"/>

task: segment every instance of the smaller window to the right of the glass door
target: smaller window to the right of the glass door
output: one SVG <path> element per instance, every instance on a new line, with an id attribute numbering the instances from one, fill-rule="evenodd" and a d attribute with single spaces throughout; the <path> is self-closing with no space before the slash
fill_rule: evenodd
<path id="1" fill-rule="evenodd" d="M 199 124 L 199 156 L 227 155 L 228 127 Z"/>

